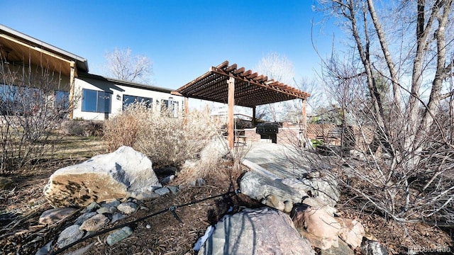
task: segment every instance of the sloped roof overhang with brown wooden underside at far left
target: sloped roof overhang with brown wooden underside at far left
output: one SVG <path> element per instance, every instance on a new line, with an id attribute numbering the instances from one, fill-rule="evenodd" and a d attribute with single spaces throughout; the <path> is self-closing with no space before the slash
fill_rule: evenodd
<path id="1" fill-rule="evenodd" d="M 33 64 L 69 75 L 69 66 L 74 62 L 78 72 L 89 72 L 88 62 L 83 57 L 67 52 L 46 42 L 25 35 L 0 24 L 0 54 L 7 62 L 18 65 Z"/>

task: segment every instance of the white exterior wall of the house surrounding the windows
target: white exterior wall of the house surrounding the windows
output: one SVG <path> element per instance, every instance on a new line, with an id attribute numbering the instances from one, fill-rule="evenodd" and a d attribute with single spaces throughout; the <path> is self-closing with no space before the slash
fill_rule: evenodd
<path id="1" fill-rule="evenodd" d="M 110 113 L 97 113 L 90 111 L 82 111 L 83 90 L 89 89 L 92 91 L 104 91 L 111 96 Z M 170 93 L 154 91 L 153 89 L 142 89 L 125 84 L 116 83 L 114 81 L 107 81 L 102 79 L 94 79 L 91 77 L 78 77 L 74 81 L 74 98 L 77 103 L 74 106 L 73 118 L 83 120 L 108 120 L 118 113 L 123 111 L 123 96 L 140 96 L 145 98 L 152 98 L 151 107 L 153 111 L 160 111 L 161 100 L 169 100 L 178 103 L 177 111 L 182 113 L 183 98 L 181 96 L 174 96 Z"/>

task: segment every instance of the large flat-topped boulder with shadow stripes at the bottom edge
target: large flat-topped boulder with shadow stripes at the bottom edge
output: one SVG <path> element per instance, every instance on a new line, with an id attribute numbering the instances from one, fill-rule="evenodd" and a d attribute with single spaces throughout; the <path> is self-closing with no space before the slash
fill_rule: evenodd
<path id="1" fill-rule="evenodd" d="M 245 209 L 219 221 L 199 254 L 315 254 L 290 217 L 271 208 Z"/>

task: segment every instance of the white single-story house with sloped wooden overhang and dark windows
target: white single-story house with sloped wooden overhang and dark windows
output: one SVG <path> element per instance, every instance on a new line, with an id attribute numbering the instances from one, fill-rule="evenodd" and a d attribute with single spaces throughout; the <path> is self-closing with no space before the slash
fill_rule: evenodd
<path id="1" fill-rule="evenodd" d="M 135 101 L 174 117 L 182 112 L 183 98 L 172 95 L 172 89 L 90 74 L 84 57 L 1 24 L 0 60 L 2 114 L 11 112 L 21 88 L 45 94 L 54 107 L 69 107 L 69 118 L 106 120 Z M 44 76 L 45 89 L 37 85 Z"/>

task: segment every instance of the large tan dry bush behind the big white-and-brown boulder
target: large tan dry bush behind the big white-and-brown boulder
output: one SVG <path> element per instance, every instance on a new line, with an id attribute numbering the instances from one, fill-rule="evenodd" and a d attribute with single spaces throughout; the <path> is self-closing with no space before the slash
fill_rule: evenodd
<path id="1" fill-rule="evenodd" d="M 111 151 L 131 146 L 153 161 L 155 167 L 181 166 L 196 159 L 199 152 L 218 134 L 218 125 L 209 111 L 192 111 L 184 118 L 171 118 L 133 103 L 123 113 L 106 122 L 104 138 Z"/>

